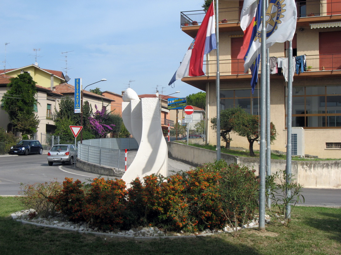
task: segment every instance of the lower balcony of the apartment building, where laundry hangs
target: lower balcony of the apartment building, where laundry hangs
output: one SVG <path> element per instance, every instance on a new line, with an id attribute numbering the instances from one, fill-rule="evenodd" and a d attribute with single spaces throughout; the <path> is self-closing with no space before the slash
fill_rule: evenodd
<path id="1" fill-rule="evenodd" d="M 307 66 L 312 66 L 311 71 L 294 74 L 294 79 L 314 79 L 314 78 L 339 78 L 341 77 L 341 54 L 328 55 L 306 55 Z M 206 76 L 184 77 L 186 82 L 196 88 L 206 90 L 207 82 L 216 81 L 217 61 L 204 61 L 203 70 Z M 259 66 L 261 73 L 261 65 Z M 244 74 L 244 60 L 229 59 L 219 60 L 219 71 L 221 82 L 250 81 L 251 72 Z M 271 75 L 271 79 L 284 79 L 283 75 Z"/>

